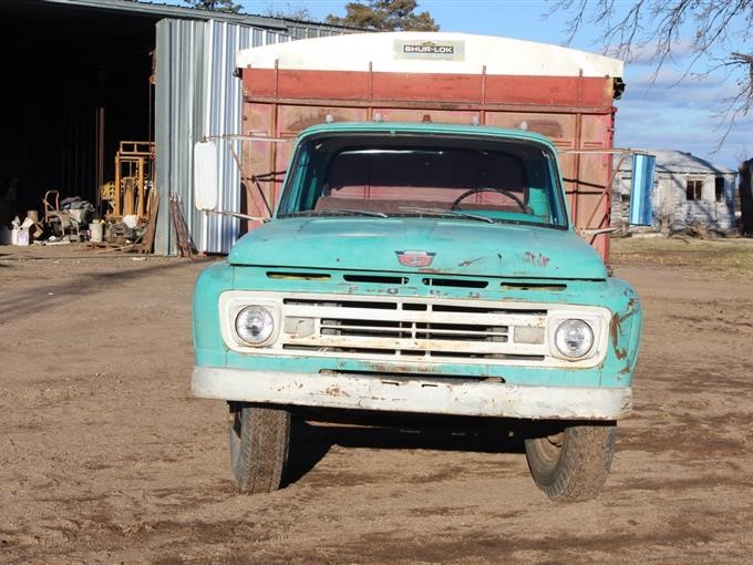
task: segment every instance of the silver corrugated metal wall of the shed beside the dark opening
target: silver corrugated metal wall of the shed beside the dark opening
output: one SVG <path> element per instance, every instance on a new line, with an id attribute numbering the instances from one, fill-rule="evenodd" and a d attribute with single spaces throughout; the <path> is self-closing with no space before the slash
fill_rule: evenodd
<path id="1" fill-rule="evenodd" d="M 233 74 L 239 49 L 290 41 L 288 35 L 235 23 L 162 20 L 157 23 L 155 138 L 159 215 L 155 253 L 175 250 L 168 201 L 183 205 L 200 251 L 228 253 L 238 238 L 235 218 L 194 207 L 193 146 L 205 135 L 240 133 L 241 83 Z M 219 142 L 219 208 L 240 212 L 240 178 L 233 155 Z M 239 144 L 235 143 L 238 151 Z"/>

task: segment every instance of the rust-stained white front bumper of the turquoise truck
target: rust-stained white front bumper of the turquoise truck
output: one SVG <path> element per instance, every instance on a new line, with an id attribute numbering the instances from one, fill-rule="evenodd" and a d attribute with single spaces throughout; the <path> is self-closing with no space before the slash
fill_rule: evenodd
<path id="1" fill-rule="evenodd" d="M 532 420 L 618 420 L 631 388 L 524 387 L 503 382 L 195 367 L 199 398 L 302 407 Z"/>

